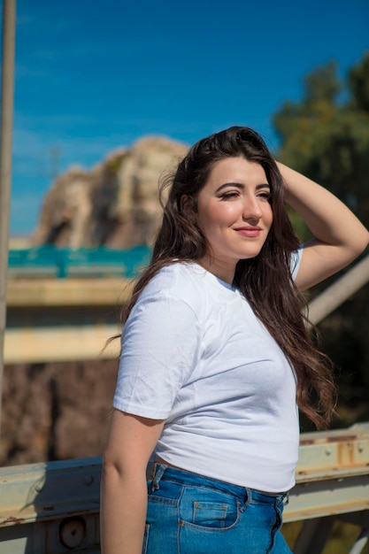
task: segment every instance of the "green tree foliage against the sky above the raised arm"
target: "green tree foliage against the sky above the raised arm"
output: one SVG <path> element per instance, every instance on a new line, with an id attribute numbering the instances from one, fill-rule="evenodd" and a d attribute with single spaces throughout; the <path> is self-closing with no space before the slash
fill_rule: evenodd
<path id="1" fill-rule="evenodd" d="M 330 62 L 309 74 L 303 100 L 286 102 L 275 114 L 279 157 L 331 190 L 368 225 L 369 52 L 346 83 L 336 69 Z"/>

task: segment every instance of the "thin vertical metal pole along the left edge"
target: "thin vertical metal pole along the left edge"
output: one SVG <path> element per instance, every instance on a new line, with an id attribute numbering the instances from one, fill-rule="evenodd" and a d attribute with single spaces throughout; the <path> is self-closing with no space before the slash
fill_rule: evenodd
<path id="1" fill-rule="evenodd" d="M 0 425 L 3 398 L 6 280 L 8 273 L 9 219 L 12 189 L 12 115 L 14 103 L 16 0 L 3 4 L 3 69 L 0 147 Z"/>

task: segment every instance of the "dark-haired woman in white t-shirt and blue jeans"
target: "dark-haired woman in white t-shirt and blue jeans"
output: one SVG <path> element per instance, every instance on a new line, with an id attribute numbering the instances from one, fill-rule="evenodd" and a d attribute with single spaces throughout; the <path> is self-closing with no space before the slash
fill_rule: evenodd
<path id="1" fill-rule="evenodd" d="M 247 127 L 197 142 L 170 184 L 125 315 L 103 552 L 284 554 L 297 407 L 318 428 L 334 408 L 298 291 L 348 265 L 368 233 Z M 304 249 L 284 202 L 315 237 Z"/>

